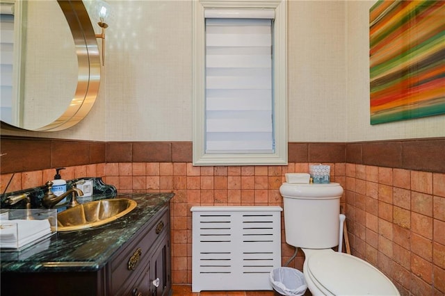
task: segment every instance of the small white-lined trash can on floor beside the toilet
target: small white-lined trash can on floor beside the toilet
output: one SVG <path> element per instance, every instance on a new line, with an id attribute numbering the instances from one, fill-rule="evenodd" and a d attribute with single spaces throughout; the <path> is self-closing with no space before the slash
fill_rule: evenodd
<path id="1" fill-rule="evenodd" d="M 295 268 L 275 268 L 269 277 L 273 289 L 280 295 L 300 296 L 307 290 L 305 275 Z"/>

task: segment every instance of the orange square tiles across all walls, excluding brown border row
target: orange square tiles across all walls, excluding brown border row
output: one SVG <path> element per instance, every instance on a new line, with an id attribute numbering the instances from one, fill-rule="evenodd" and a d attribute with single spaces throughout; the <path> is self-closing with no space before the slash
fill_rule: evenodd
<path id="1" fill-rule="evenodd" d="M 445 294 L 445 174 L 331 163 L 332 181 L 346 189 L 342 204 L 352 253 L 377 266 L 402 295 Z M 286 166 L 193 167 L 191 163 L 101 163 L 67 167 L 65 179 L 102 176 L 119 192 L 175 192 L 171 202 L 172 282 L 191 283 L 191 206 L 279 205 Z M 16 173 L 8 191 L 41 186 L 54 170 Z M 2 191 L 12 174 L 1 175 Z M 282 263 L 294 249 L 285 242 Z M 290 266 L 302 269 L 301 252 Z"/>

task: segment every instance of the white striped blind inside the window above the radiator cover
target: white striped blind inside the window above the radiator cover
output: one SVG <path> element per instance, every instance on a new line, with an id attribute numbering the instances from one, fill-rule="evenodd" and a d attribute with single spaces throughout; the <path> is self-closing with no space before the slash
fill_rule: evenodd
<path id="1" fill-rule="evenodd" d="M 233 13 L 205 14 L 205 151 L 273 153 L 273 13 Z"/>

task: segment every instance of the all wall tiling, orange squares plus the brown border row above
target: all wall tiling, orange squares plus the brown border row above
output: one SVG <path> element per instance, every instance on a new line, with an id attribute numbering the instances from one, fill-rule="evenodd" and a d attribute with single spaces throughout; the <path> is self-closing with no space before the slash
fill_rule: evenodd
<path id="1" fill-rule="evenodd" d="M 118 192 L 175 192 L 171 201 L 172 283 L 191 283 L 191 206 L 282 206 L 279 188 L 284 174 L 308 172 L 310 164 L 323 163 L 331 166 L 331 181 L 345 188 L 341 203 L 346 208 L 353 254 L 387 274 L 402 295 L 445 293 L 444 139 L 294 142 L 289 143 L 289 165 L 269 167 L 194 167 L 190 142 L 102 144 L 77 143 L 87 154 L 77 165 L 58 159 L 64 155 L 58 149 L 58 156 L 45 152 L 42 158 L 49 159 L 45 161 L 49 167 L 40 170 L 20 170 L 24 164 L 15 163 L 14 170 L 5 172 L 2 159 L 1 192 L 13 172 L 8 192 L 42 186 L 53 179 L 56 166 L 66 167 L 64 179 L 101 176 Z M 49 145 L 54 146 L 60 143 Z M 2 140 L 2 153 L 3 147 Z M 102 151 L 97 147 L 106 156 L 91 163 L 93 158 L 102 158 L 96 155 Z M 23 154 L 12 153 L 15 159 L 23 159 Z M 7 167 L 13 168 L 13 163 Z M 285 243 L 282 227 L 283 264 L 293 252 Z M 290 266 L 302 269 L 303 259 L 298 252 Z"/>

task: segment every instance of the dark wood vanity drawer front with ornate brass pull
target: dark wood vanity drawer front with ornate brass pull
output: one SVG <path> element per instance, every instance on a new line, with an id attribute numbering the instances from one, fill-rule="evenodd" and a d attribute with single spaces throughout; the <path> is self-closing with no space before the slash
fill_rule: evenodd
<path id="1" fill-rule="evenodd" d="M 132 286 L 140 274 L 145 273 L 149 264 L 150 248 L 168 232 L 170 215 L 168 208 L 156 214 L 148 227 L 136 233 L 135 237 L 124 245 L 123 251 L 110 263 L 111 295 L 120 295 Z"/>

